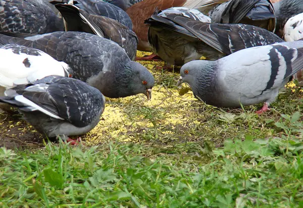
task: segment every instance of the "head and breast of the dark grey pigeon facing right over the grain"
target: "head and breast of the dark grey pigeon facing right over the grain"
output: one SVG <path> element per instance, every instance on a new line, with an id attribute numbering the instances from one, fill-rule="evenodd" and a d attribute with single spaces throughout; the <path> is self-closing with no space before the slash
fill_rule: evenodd
<path id="1" fill-rule="evenodd" d="M 142 93 L 149 100 L 151 88 L 155 85 L 155 78 L 141 64 L 129 61 L 118 64 L 115 71 L 100 72 L 98 77 L 90 78 L 88 83 L 109 98 L 127 97 Z"/>

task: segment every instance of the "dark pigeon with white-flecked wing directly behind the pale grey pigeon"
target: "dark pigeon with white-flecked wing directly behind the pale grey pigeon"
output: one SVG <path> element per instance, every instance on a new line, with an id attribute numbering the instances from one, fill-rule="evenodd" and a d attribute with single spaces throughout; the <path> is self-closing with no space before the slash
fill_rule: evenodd
<path id="1" fill-rule="evenodd" d="M 178 14 L 177 11 L 182 13 Z M 245 48 L 284 41 L 260 27 L 204 23 L 201 21 L 208 20 L 204 16 L 197 16 L 198 13 L 193 11 L 164 10 L 145 21 L 150 25 L 148 41 L 153 52 L 166 61 L 168 66 L 183 65 L 201 56 L 214 61 Z"/>

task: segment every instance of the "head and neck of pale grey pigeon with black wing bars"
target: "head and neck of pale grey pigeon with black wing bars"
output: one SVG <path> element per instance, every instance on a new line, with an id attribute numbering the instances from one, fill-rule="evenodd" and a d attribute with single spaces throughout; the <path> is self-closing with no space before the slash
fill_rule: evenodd
<path id="1" fill-rule="evenodd" d="M 188 83 L 194 94 L 209 89 L 215 77 L 216 61 L 196 60 L 184 64 L 180 69 L 177 86 Z"/>

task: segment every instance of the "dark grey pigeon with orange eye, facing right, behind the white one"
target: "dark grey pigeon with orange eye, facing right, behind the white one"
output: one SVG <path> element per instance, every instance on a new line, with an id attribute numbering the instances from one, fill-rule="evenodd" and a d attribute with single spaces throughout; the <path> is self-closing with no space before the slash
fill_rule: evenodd
<path id="1" fill-rule="evenodd" d="M 6 33 L 9 34 L 9 33 Z M 23 34 L 13 33 L 19 36 Z M 73 77 L 86 81 L 110 98 L 144 94 L 151 98 L 155 79 L 144 66 L 131 61 L 114 41 L 85 32 L 53 32 L 11 37 L 0 32 L 0 43 L 41 50 L 73 69 Z"/>

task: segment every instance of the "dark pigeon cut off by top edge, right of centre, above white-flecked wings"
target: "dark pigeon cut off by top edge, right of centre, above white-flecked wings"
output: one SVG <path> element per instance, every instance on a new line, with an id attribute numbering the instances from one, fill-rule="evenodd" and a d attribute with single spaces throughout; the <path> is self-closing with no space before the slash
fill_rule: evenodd
<path id="1" fill-rule="evenodd" d="M 270 0 L 230 0 L 209 13 L 214 23 L 241 23 L 274 32 L 275 10 Z"/>

